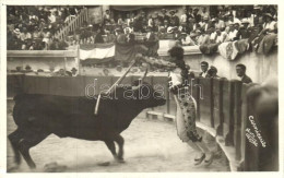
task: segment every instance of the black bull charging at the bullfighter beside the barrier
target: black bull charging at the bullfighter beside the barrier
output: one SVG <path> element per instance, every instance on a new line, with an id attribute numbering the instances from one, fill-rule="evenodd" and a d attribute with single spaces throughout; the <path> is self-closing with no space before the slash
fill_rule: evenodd
<path id="1" fill-rule="evenodd" d="M 165 104 L 162 92 L 146 83 L 135 88 L 115 88 L 109 97 L 100 99 L 97 116 L 94 115 L 96 98 L 21 94 L 14 100 L 13 118 L 17 129 L 8 138 L 15 163 L 20 164 L 22 154 L 31 168 L 36 165 L 29 149 L 51 133 L 60 138 L 104 141 L 115 159 L 122 162 L 125 141 L 120 133 L 143 109 Z"/>

